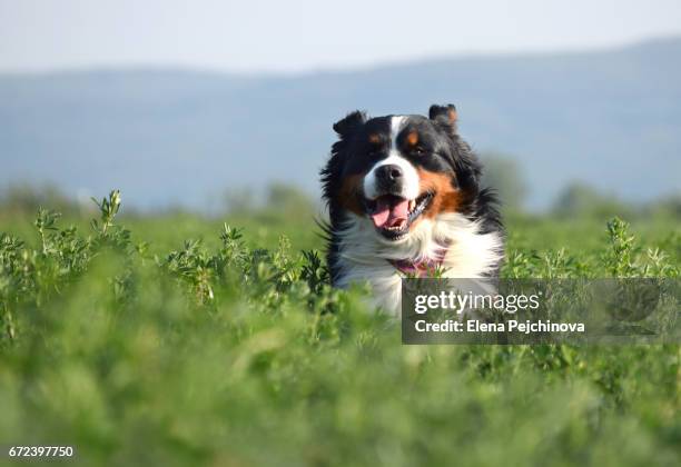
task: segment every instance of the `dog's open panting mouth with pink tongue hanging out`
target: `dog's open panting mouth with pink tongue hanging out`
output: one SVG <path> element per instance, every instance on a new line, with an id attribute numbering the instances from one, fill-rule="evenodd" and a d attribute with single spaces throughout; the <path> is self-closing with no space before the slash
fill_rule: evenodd
<path id="1" fill-rule="evenodd" d="M 398 240 L 409 232 L 409 227 L 425 211 L 434 195 L 426 191 L 416 199 L 383 195 L 376 199 L 365 199 L 364 207 L 381 235 Z"/>

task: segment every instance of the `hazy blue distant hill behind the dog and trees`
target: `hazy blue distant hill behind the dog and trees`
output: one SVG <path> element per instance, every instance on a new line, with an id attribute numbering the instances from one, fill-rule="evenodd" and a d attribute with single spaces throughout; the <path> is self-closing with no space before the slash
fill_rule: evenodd
<path id="1" fill-rule="evenodd" d="M 582 180 L 629 200 L 681 189 L 681 39 L 589 53 L 440 59 L 303 76 L 124 69 L 0 76 L 0 183 L 204 206 L 228 188 L 318 192 L 332 123 L 460 109 L 478 151 L 516 157 L 530 205 Z"/>

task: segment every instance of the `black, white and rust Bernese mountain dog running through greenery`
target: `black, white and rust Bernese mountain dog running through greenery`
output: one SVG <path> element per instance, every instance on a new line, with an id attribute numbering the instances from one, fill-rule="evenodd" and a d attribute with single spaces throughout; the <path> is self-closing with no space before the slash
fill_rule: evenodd
<path id="1" fill-rule="evenodd" d="M 320 172 L 334 286 L 368 282 L 374 305 L 399 316 L 403 277 L 499 274 L 496 197 L 481 188 L 482 165 L 457 133 L 454 106 L 434 105 L 427 118 L 354 111 L 334 130 Z"/>

